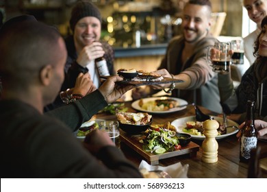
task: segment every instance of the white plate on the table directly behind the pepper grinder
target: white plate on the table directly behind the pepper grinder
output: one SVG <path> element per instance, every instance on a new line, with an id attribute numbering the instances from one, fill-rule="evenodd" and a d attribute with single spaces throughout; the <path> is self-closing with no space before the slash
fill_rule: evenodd
<path id="1" fill-rule="evenodd" d="M 220 123 L 220 125 L 223 124 L 223 117 L 214 117 L 214 119 L 216 121 L 218 121 Z M 188 121 L 196 121 L 196 117 L 190 116 L 190 117 L 183 117 L 183 118 L 175 119 L 175 121 L 173 121 L 171 124 L 175 126 L 175 128 L 177 129 L 177 132 L 183 133 L 183 129 L 186 128 L 186 122 L 188 122 Z M 236 127 L 238 127 L 238 123 L 228 119 L 227 120 L 227 126 L 230 126 L 230 125 L 231 126 L 235 125 Z M 236 129 L 236 128 L 227 128 L 227 134 L 218 135 L 218 136 L 216 136 L 216 139 L 223 139 L 223 138 L 230 136 L 232 134 L 236 134 L 237 132 L 238 132 L 238 129 Z M 184 133 L 187 133 L 187 132 L 184 132 Z M 199 136 L 199 135 L 194 135 L 194 134 L 191 134 L 191 136 L 192 136 L 192 139 L 199 139 L 199 140 L 205 139 L 205 136 Z"/>

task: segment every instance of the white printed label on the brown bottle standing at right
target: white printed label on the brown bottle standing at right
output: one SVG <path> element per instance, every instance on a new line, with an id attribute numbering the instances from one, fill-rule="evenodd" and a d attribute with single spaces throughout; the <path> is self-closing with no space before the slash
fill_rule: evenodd
<path id="1" fill-rule="evenodd" d="M 251 158 L 251 149 L 256 148 L 257 146 L 257 137 L 241 137 L 241 147 L 240 147 L 240 155 L 246 159 Z"/>

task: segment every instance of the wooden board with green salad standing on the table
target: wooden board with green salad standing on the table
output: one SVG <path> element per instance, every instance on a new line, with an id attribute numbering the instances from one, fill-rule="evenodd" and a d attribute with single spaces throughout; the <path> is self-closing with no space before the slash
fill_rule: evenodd
<path id="1" fill-rule="evenodd" d="M 157 165 L 161 159 L 183 154 L 196 156 L 199 145 L 190 141 L 190 135 L 186 137 L 188 134 L 177 134 L 175 127 L 170 125 L 170 122 L 150 125 L 151 121 L 138 134 L 133 134 L 125 128 L 120 130 L 120 142 L 131 147 L 151 165 Z M 136 128 L 136 125 L 133 125 L 133 128 Z"/>

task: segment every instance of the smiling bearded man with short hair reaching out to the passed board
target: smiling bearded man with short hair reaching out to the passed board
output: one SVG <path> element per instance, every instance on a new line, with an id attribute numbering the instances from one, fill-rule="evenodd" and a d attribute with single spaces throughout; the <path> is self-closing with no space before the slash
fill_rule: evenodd
<path id="1" fill-rule="evenodd" d="M 222 112 L 217 87 L 218 75 L 212 71 L 206 60 L 207 47 L 218 42 L 209 34 L 211 14 L 212 5 L 209 0 L 190 0 L 186 3 L 181 23 L 183 34 L 170 40 L 166 55 L 156 71 L 162 76 L 174 77 L 183 82 L 175 84 L 176 90 L 170 84 L 153 88 L 168 88 L 166 92 L 172 92 L 173 97 L 194 102 L 214 112 Z M 152 93 L 155 91 L 146 87 L 133 91 L 132 97 L 138 99 Z"/>

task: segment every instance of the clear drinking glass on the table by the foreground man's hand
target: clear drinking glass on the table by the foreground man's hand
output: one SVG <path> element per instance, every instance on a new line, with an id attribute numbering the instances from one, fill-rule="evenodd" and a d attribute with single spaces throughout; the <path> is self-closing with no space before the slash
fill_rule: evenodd
<path id="1" fill-rule="evenodd" d="M 101 121 L 99 122 L 99 130 L 107 132 L 116 147 L 120 148 L 120 130 L 118 121 Z"/>

